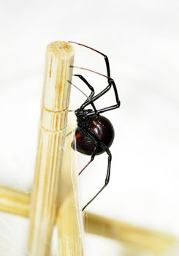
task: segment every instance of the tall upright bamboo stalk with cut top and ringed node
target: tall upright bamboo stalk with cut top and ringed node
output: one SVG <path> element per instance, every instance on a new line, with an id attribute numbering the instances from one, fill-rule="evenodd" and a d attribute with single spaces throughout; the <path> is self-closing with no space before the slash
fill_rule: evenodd
<path id="1" fill-rule="evenodd" d="M 45 84 L 39 127 L 34 184 L 30 199 L 28 250 L 48 256 L 56 219 L 58 178 L 66 135 L 74 49 L 67 42 L 47 46 Z"/>

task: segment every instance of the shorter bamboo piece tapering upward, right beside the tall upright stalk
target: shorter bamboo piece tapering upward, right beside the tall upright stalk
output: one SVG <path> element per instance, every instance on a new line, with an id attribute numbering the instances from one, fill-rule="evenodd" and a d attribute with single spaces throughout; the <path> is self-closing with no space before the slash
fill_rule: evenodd
<path id="1" fill-rule="evenodd" d="M 77 170 L 71 148 L 72 136 L 66 138 L 64 161 L 61 168 L 60 208 L 57 216 L 58 256 L 83 256 L 83 219 L 78 203 Z M 66 151 L 68 154 L 66 154 Z"/>

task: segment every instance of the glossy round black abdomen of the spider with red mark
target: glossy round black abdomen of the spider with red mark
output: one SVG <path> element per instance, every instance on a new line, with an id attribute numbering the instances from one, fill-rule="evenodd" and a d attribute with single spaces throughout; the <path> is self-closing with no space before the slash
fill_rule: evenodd
<path id="1" fill-rule="evenodd" d="M 110 148 L 114 140 L 114 128 L 110 120 L 104 116 L 95 116 L 86 124 L 86 129 L 94 138 L 104 143 L 107 148 Z M 83 130 L 77 127 L 75 131 L 76 149 L 82 154 L 91 155 L 94 152 L 94 140 L 84 135 Z M 72 148 L 75 149 L 75 142 L 72 142 Z M 96 154 L 102 154 L 104 149 L 99 146 L 96 149 Z"/>

